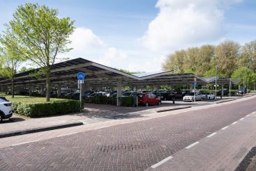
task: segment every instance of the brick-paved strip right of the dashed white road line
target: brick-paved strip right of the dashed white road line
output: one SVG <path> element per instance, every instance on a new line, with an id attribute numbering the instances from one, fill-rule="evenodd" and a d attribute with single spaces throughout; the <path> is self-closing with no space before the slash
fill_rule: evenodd
<path id="1" fill-rule="evenodd" d="M 152 170 L 235 170 L 256 145 L 256 112 L 152 165 Z"/>

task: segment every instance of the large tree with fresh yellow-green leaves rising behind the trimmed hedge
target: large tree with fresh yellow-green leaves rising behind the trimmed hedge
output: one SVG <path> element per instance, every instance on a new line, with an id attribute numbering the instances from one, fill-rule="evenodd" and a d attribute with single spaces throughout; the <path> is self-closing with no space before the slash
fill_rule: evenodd
<path id="1" fill-rule="evenodd" d="M 74 31 L 74 21 L 69 17 L 58 17 L 58 10 L 37 3 L 26 3 L 18 6 L 13 14 L 13 20 L 6 24 L 3 38 L 14 34 L 19 41 L 15 51 L 26 56 L 34 65 L 41 67 L 41 73 L 46 76 L 47 96 L 50 95 L 50 66 L 57 60 L 57 55 L 70 51 L 67 44 L 69 36 Z M 8 43 L 13 45 L 13 40 Z"/>

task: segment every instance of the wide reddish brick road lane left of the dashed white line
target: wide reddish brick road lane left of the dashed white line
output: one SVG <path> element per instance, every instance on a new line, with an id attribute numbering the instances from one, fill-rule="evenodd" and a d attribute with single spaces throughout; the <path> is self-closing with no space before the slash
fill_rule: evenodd
<path id="1" fill-rule="evenodd" d="M 0 149 L 0 170 L 145 170 L 256 111 L 256 98 Z"/>

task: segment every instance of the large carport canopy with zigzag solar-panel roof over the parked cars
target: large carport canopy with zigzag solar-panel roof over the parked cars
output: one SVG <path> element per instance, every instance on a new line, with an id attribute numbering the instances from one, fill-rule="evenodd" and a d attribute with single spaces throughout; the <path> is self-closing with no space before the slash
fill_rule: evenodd
<path id="1" fill-rule="evenodd" d="M 46 76 L 35 73 L 40 68 L 15 74 L 14 84 L 17 88 L 45 87 Z M 51 65 L 51 86 L 76 87 L 77 73 L 84 72 L 86 79 L 84 86 L 117 86 L 118 97 L 122 96 L 122 86 L 145 86 L 145 85 L 192 85 L 194 78 L 198 84 L 210 83 L 212 79 L 205 79 L 195 74 L 173 74 L 170 71 L 127 74 L 99 63 L 94 63 L 84 58 L 75 58 L 65 62 Z M 214 77 L 215 79 L 215 77 Z M 10 87 L 10 80 L 0 78 L 1 88 Z M 83 87 L 84 87 L 83 86 Z"/>

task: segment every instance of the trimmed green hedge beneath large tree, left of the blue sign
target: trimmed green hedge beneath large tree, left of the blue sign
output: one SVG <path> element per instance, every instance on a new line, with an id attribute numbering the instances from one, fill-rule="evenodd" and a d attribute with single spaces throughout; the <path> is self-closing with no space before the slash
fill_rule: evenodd
<path id="1" fill-rule="evenodd" d="M 80 102 L 77 100 L 51 101 L 35 104 L 14 102 L 13 111 L 27 117 L 62 115 L 66 113 L 79 112 Z"/>

